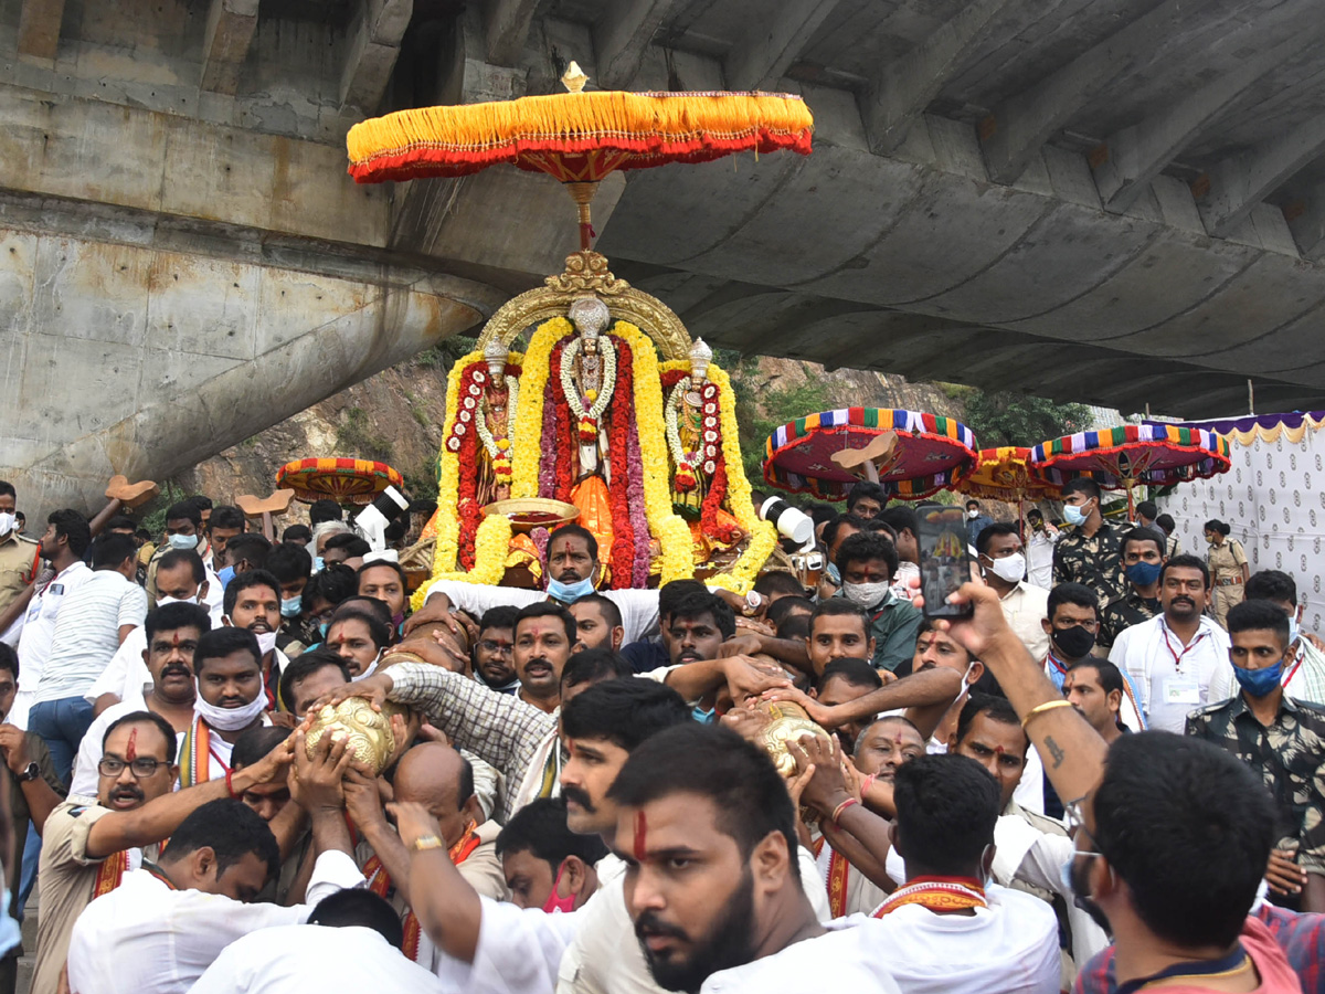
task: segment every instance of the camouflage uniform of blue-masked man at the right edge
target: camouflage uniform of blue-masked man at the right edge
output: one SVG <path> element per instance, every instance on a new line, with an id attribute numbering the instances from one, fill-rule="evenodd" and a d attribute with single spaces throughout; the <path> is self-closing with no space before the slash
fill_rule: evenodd
<path id="1" fill-rule="evenodd" d="M 1187 716 L 1187 734 L 1232 753 L 1260 774 L 1279 808 L 1275 848 L 1297 848 L 1297 865 L 1325 876 L 1325 706 L 1287 693 L 1268 728 L 1236 697 Z"/>

